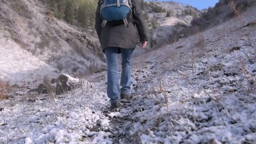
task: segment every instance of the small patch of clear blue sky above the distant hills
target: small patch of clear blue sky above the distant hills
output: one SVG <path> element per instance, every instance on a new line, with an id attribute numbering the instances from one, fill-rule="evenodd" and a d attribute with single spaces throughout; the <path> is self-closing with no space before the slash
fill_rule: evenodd
<path id="1" fill-rule="evenodd" d="M 170 0 L 159 0 L 159 1 L 170 1 Z M 192 5 L 199 10 L 208 8 L 209 6 L 214 7 L 214 5 L 219 2 L 219 0 L 173 0 L 183 4 Z"/>

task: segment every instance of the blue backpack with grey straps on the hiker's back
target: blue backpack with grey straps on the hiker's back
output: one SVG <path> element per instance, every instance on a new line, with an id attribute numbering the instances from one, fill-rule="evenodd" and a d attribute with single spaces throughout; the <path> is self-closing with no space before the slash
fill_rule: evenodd
<path id="1" fill-rule="evenodd" d="M 132 8 L 131 0 L 101 0 L 101 27 L 107 23 L 111 26 L 125 24 L 128 27 L 128 21 L 132 19 Z"/>

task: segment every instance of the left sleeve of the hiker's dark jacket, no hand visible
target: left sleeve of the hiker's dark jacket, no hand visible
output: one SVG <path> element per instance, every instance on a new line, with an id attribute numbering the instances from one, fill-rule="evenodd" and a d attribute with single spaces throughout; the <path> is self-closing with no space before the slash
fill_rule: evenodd
<path id="1" fill-rule="evenodd" d="M 101 23 L 102 23 L 102 19 L 101 19 L 101 14 L 100 14 L 100 0 L 98 2 L 98 7 L 96 10 L 96 14 L 95 14 L 95 29 L 99 38 L 99 41 L 101 43 Z"/>

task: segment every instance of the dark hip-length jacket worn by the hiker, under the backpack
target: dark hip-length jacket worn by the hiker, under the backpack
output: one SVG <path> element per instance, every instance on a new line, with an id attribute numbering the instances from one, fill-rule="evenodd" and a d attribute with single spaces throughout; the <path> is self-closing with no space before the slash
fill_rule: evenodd
<path id="1" fill-rule="evenodd" d="M 100 0 L 99 0 L 100 2 Z M 95 29 L 101 43 L 101 48 L 118 47 L 118 48 L 135 48 L 138 43 L 138 33 L 140 41 L 148 40 L 148 32 L 145 24 L 144 14 L 141 11 L 139 0 L 131 0 L 134 5 L 135 14 L 133 13 L 133 22 L 129 21 L 129 26 L 109 26 L 101 27 L 102 19 L 100 15 L 100 3 L 96 10 Z"/>

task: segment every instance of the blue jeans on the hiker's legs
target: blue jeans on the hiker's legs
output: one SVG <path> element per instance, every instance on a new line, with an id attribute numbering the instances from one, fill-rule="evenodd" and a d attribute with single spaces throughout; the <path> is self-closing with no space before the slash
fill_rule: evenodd
<path id="1" fill-rule="evenodd" d="M 105 48 L 107 58 L 107 96 L 111 102 L 120 100 L 121 94 L 129 94 L 131 88 L 131 58 L 133 49 L 120 48 L 122 55 L 121 88 L 118 78 L 118 49 L 117 47 Z"/>

